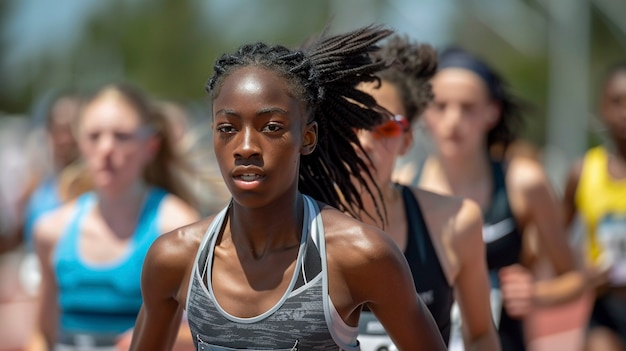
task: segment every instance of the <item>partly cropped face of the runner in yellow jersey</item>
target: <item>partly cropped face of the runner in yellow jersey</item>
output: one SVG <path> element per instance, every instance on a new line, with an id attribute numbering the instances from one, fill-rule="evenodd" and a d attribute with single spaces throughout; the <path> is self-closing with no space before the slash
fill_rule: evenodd
<path id="1" fill-rule="evenodd" d="M 606 83 L 600 108 L 611 138 L 626 145 L 626 72 L 617 73 Z"/>

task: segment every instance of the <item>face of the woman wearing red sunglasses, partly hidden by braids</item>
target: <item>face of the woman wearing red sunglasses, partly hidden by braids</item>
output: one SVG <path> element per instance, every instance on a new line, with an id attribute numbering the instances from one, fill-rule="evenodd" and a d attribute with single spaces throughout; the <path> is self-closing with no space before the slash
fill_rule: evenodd
<path id="1" fill-rule="evenodd" d="M 361 146 L 363 146 L 371 160 L 370 171 L 374 172 L 376 181 L 379 186 L 382 186 L 391 181 L 396 158 L 407 152 L 413 141 L 413 134 L 405 117 L 406 112 L 404 111 L 400 94 L 393 84 L 387 81 L 382 81 L 380 87 L 373 83 L 362 84 L 360 89 L 372 95 L 380 106 L 393 115 L 398 116 L 396 118 L 404 119 L 404 121 L 386 122 L 395 124 L 395 129 L 382 127 L 385 131 L 389 130 L 389 132 L 381 133 L 376 130 L 360 130 L 357 133 Z M 399 132 L 393 133 L 396 130 Z"/>

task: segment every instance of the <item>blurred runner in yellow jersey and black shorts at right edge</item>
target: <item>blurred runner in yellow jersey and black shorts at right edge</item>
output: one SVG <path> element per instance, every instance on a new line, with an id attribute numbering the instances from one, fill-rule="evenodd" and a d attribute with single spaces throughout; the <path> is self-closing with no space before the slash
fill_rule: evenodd
<path id="1" fill-rule="evenodd" d="M 572 166 L 564 201 L 567 223 L 581 220 L 596 289 L 586 349 L 612 351 L 626 349 L 626 62 L 604 77 L 600 114 L 609 140 Z"/>

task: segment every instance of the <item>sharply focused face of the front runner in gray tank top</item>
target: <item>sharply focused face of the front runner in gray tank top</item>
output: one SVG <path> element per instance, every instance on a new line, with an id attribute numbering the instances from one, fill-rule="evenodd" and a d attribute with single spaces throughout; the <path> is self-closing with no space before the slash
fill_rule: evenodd
<path id="1" fill-rule="evenodd" d="M 234 200 L 261 207 L 297 191 L 300 155 L 313 151 L 316 123 L 287 81 L 244 67 L 222 82 L 213 101 L 213 146 Z"/>

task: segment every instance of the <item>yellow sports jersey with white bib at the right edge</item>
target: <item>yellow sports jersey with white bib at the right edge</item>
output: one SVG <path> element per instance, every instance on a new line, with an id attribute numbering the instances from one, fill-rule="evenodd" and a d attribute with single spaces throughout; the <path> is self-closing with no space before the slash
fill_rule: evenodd
<path id="1" fill-rule="evenodd" d="M 611 281 L 626 285 L 626 179 L 611 178 L 604 147 L 585 154 L 575 201 L 587 233 L 587 258 L 611 266 Z"/>

